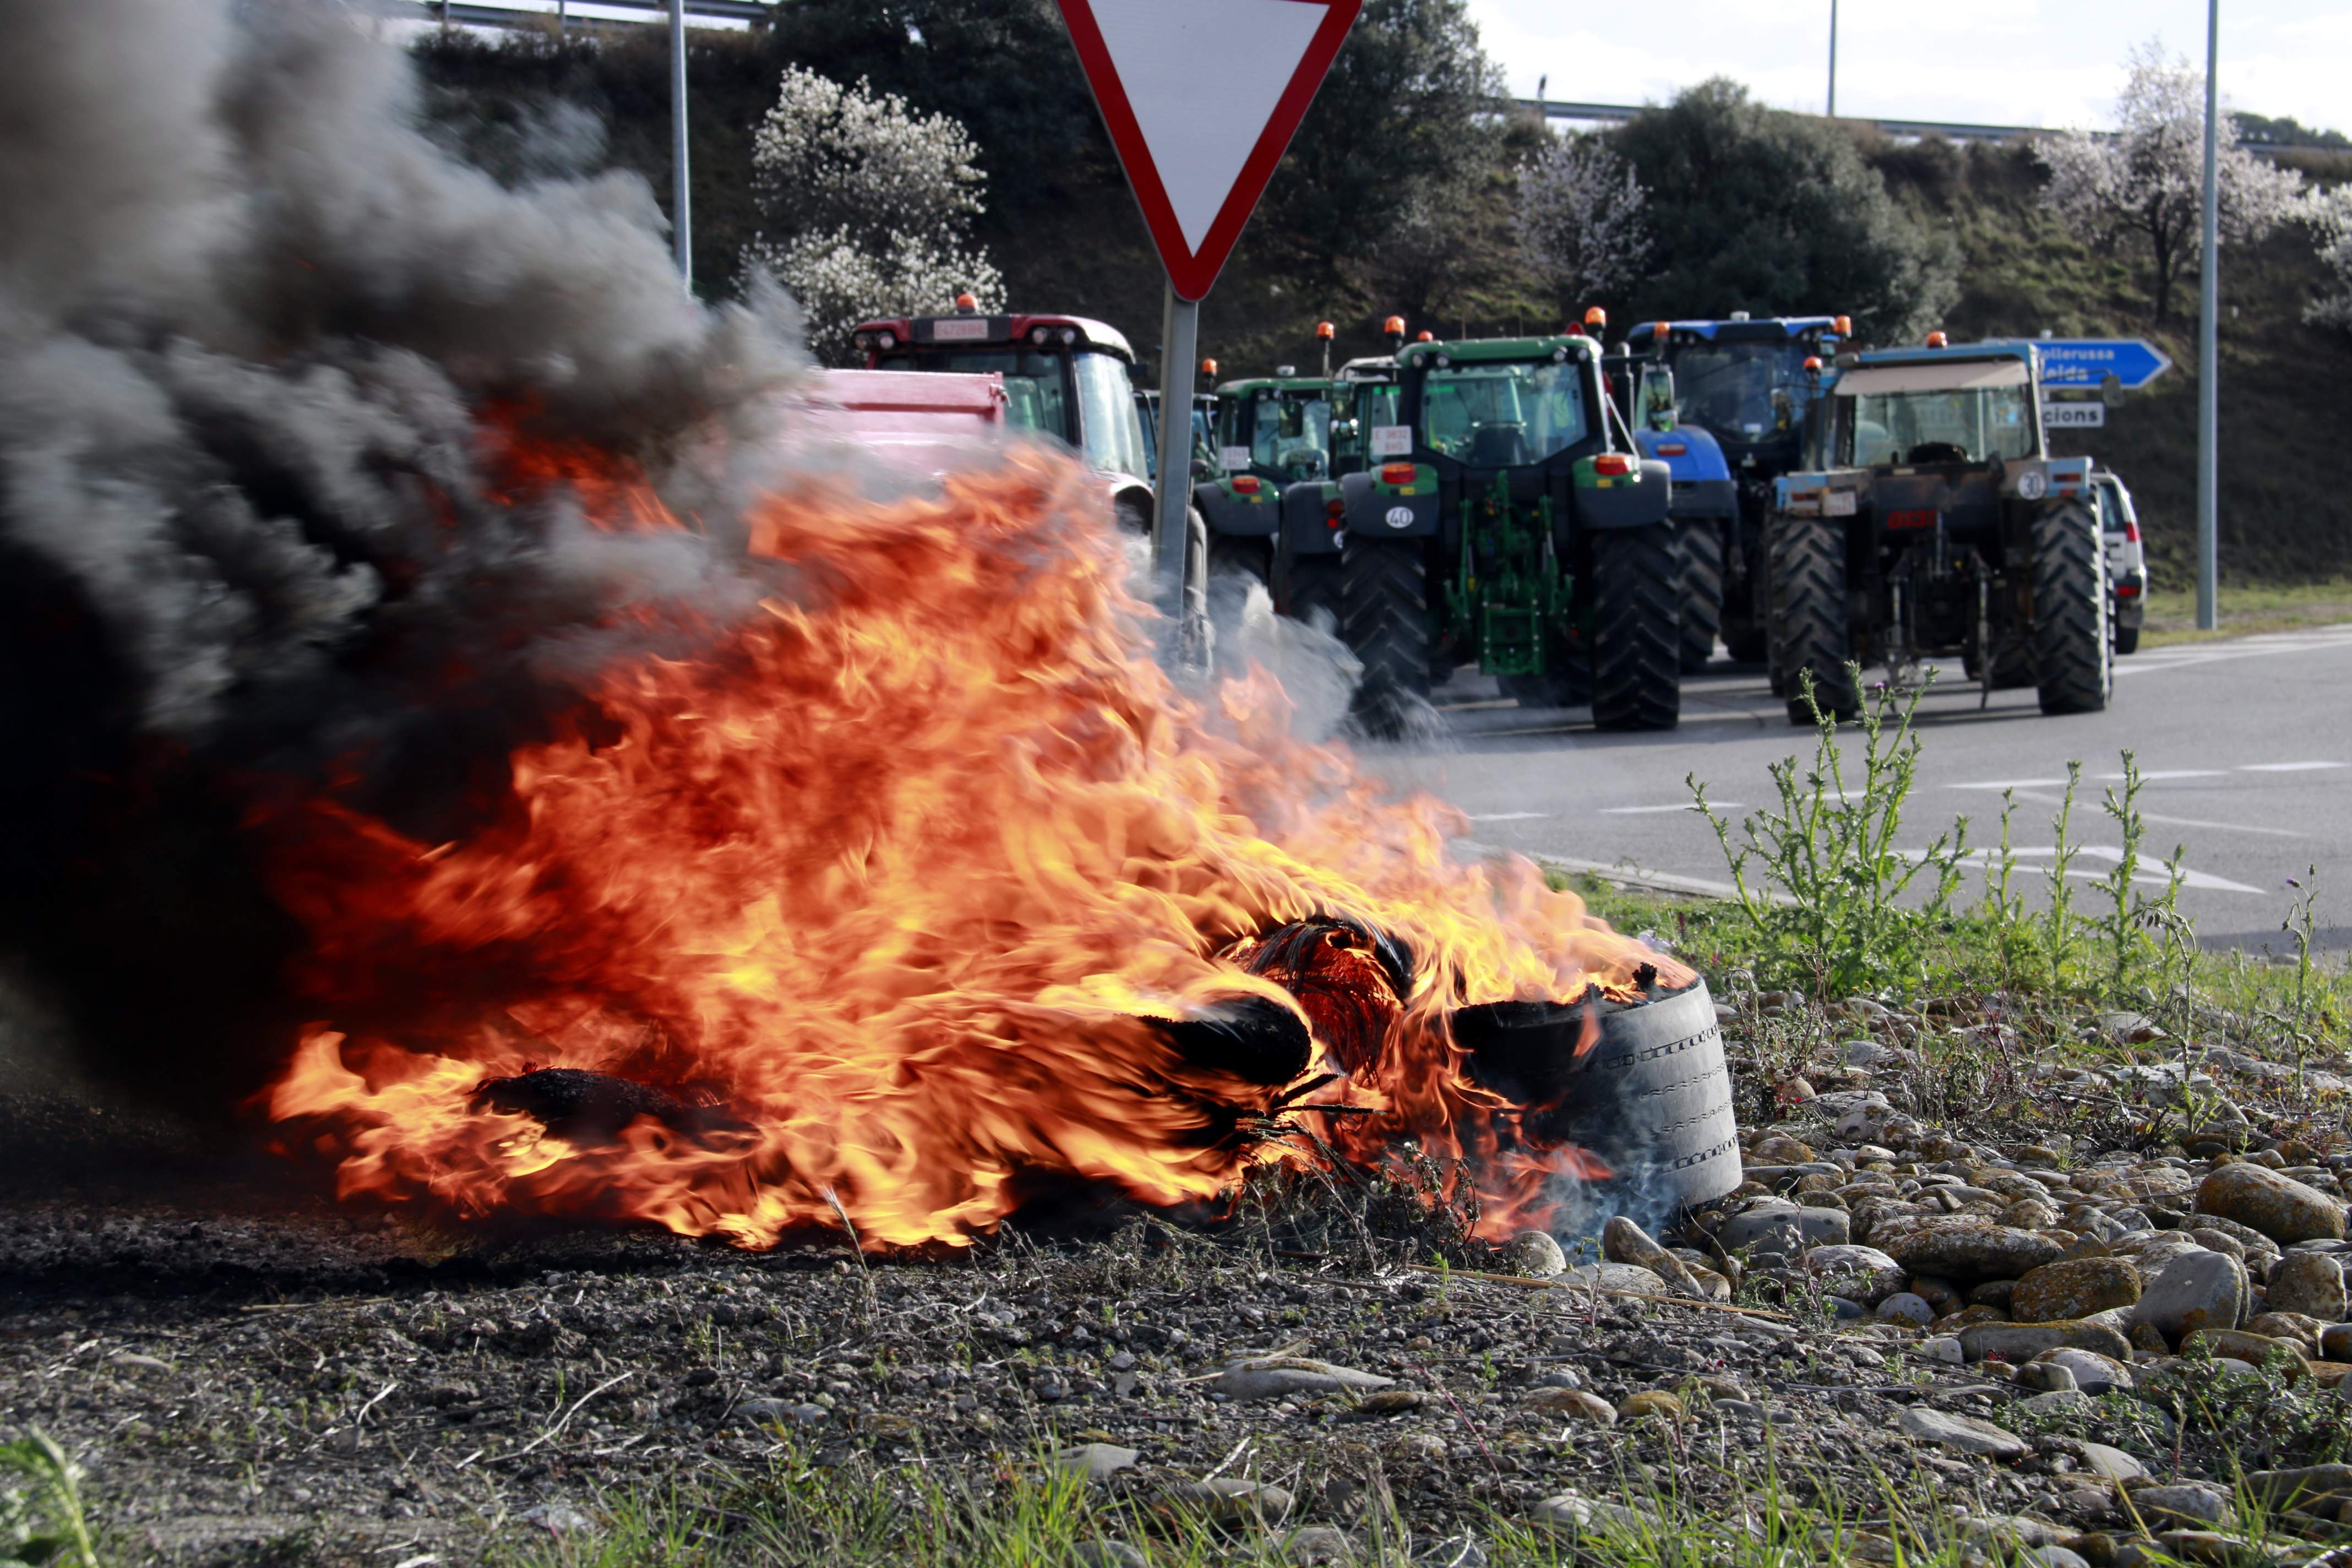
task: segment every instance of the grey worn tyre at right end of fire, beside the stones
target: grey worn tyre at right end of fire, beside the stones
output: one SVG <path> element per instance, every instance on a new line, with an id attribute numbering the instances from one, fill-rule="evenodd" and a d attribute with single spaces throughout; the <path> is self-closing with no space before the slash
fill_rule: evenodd
<path id="1" fill-rule="evenodd" d="M 1597 1025 L 1578 1056 L 1585 1025 Z M 1705 980 L 1651 1001 L 1496 1001 L 1454 1013 L 1470 1077 L 1529 1107 L 1522 1128 L 1573 1143 L 1606 1201 L 1691 1208 L 1740 1185 L 1724 1032 Z"/>

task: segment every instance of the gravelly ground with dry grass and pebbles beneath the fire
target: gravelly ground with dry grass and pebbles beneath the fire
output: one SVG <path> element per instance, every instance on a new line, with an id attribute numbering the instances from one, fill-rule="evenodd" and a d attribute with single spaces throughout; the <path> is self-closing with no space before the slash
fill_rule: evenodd
<path id="1" fill-rule="evenodd" d="M 334 1208 L 235 1145 L 33 1084 L 0 1105 L 0 1422 L 87 1465 L 118 1561 L 172 1563 L 480 1561 L 595 1530 L 614 1497 L 677 1481 L 1058 1462 L 1112 1493 L 1249 1505 L 1289 1528 L 1357 1530 L 1392 1505 L 1421 1542 L 1588 1516 L 1595 1500 L 1726 1521 L 1755 1512 L 1773 1472 L 1865 1530 L 1917 1505 L 2098 1568 L 2133 1561 L 2119 1542 L 2143 1523 L 2213 1523 L 2206 1502 L 2147 1486 L 2230 1488 L 2239 1467 L 2343 1458 L 2321 1319 L 2258 1319 L 2265 1279 L 2281 1293 L 2288 1274 L 2326 1274 L 2279 1258 L 2345 1246 L 2352 1154 L 2326 1065 L 2300 1084 L 2244 1048 L 2183 1067 L 2145 1020 L 2084 1030 L 1997 1004 L 1825 1013 L 1750 997 L 1729 1023 L 1748 1037 L 1740 1105 L 1778 1117 L 1743 1133 L 1757 1180 L 1653 1272 L 1623 1262 L 1646 1237 L 1611 1232 L 1613 1269 L 1555 1279 L 1515 1274 L 1557 1267 L 1526 1246 L 1416 1269 L 1143 1215 L 929 1260 L 447 1234 Z M 1955 1100 L 1983 1114 L 1938 1121 Z M 2201 1119 L 2187 1143 L 2185 1119 Z M 2216 1168 L 2298 1185 L 2336 1234 L 2281 1241 L 2206 1213 Z M 1823 1246 L 1846 1251 L 1811 1234 L 1719 1246 L 1740 1211 L 1757 1211 L 1752 1229 L 1790 1208 L 1842 1215 Z M 1976 1262 L 1922 1253 L 1936 1227 L 1969 1229 Z M 2060 1279 L 2004 1276 L 1992 1232 L 2032 1267 L 2119 1260 L 2091 1284 L 2129 1274 L 2150 1302 L 2180 1255 L 2234 1255 L 2234 1274 L 2216 1265 L 2239 1291 L 2227 1321 L 2197 1321 L 2267 1333 L 2183 1356 L 2138 1307 L 2082 1302 L 2060 1340 L 2119 1352 L 2133 1389 L 2070 1392 L 2046 1363 L 2020 1366 L 2037 1342 L 1985 1338 L 2020 1291 Z M 1875 1274 L 1851 1255 L 1865 1241 L 1910 1262 Z M 1668 1274 L 1719 1295 L 1736 1281 L 1736 1298 L 1562 1284 L 1663 1298 Z M 2340 1286 L 2333 1300 L 2343 1319 Z M 2272 1556 L 2317 1556 L 2333 1507 L 2298 1514 L 2300 1544 Z"/>

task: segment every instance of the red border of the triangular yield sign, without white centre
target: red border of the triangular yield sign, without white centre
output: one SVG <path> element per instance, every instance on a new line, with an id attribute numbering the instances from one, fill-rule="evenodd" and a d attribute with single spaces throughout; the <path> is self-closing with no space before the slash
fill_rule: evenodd
<path id="1" fill-rule="evenodd" d="M 1242 174 L 1232 181 L 1232 190 L 1225 193 L 1225 205 L 1216 209 L 1216 221 L 1209 223 L 1209 233 L 1202 237 L 1197 252 L 1185 244 L 1183 223 L 1176 221 L 1176 205 L 1169 202 L 1167 186 L 1160 183 L 1152 148 L 1143 141 L 1143 127 L 1136 125 L 1136 110 L 1120 85 L 1117 66 L 1110 63 L 1110 49 L 1103 45 L 1103 28 L 1094 21 L 1094 2 L 1058 2 L 1061 19 L 1070 28 L 1070 42 L 1077 47 L 1077 63 L 1087 71 L 1087 87 L 1094 89 L 1094 106 L 1103 113 L 1103 125 L 1110 129 L 1110 146 L 1120 150 L 1120 162 L 1127 167 L 1127 183 L 1136 193 L 1136 205 L 1143 207 L 1143 223 L 1152 230 L 1152 244 L 1160 247 L 1160 261 L 1167 263 L 1169 282 L 1176 287 L 1178 299 L 1202 299 L 1209 294 L 1216 275 L 1225 270 L 1225 259 L 1232 256 L 1232 247 L 1242 237 L 1242 226 L 1258 209 L 1258 197 L 1265 195 L 1265 183 L 1275 176 L 1275 165 L 1282 162 L 1291 136 L 1298 134 L 1298 122 L 1308 118 L 1315 89 L 1322 87 L 1331 61 L 1338 59 L 1338 47 L 1348 42 L 1348 28 L 1355 26 L 1364 0 L 1289 0 L 1291 5 L 1324 7 L 1322 26 L 1308 40 L 1308 52 L 1298 61 L 1291 85 L 1275 101 L 1272 118 L 1258 132 L 1258 146 L 1249 150 Z M 1162 2 L 1181 5 L 1181 0 Z"/>

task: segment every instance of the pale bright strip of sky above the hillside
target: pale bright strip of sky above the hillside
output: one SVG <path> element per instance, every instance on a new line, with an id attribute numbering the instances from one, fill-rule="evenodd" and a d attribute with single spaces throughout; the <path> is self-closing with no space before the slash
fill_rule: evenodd
<path id="1" fill-rule="evenodd" d="M 1773 108 L 1820 113 L 1830 0 L 1470 0 L 1517 96 L 1663 103 L 1729 75 Z M 2112 120 L 2124 52 L 2161 38 L 2199 71 L 2206 0 L 1837 0 L 1837 110 L 1971 125 Z M 2223 0 L 2232 108 L 2352 134 L 2352 0 Z"/>

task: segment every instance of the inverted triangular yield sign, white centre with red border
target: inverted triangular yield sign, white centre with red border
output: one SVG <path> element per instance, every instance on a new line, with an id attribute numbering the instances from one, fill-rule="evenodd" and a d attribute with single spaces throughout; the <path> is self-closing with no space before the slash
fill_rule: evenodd
<path id="1" fill-rule="evenodd" d="M 1061 0 L 1178 299 L 1232 254 L 1364 0 Z"/>

